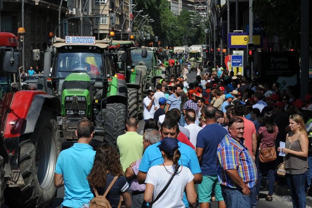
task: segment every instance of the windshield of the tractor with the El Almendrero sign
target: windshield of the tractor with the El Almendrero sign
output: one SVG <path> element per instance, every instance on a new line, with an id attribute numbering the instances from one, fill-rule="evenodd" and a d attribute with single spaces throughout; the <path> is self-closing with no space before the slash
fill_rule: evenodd
<path id="1" fill-rule="evenodd" d="M 80 50 L 81 51 L 81 50 Z M 98 53 L 59 52 L 56 60 L 56 78 L 66 78 L 74 71 L 86 72 L 90 78 L 103 77 L 103 59 L 100 51 Z"/>

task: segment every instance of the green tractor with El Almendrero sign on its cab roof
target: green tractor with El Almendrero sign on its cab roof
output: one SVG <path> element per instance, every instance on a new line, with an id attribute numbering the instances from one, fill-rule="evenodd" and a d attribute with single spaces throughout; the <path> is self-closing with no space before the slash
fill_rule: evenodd
<path id="1" fill-rule="evenodd" d="M 63 141 L 76 140 L 76 126 L 82 119 L 94 122 L 95 134 L 104 135 L 113 146 L 124 134 L 129 96 L 125 76 L 117 73 L 116 64 L 124 63 L 126 56 L 123 51 L 109 52 L 110 44 L 95 37 L 53 40 L 53 64 L 51 71 L 44 71 L 44 91 L 61 99 L 57 119 Z M 38 53 L 33 50 L 34 60 L 39 60 Z M 51 55 L 46 55 L 51 54 L 50 48 L 44 53 L 44 64 L 51 66 Z"/>

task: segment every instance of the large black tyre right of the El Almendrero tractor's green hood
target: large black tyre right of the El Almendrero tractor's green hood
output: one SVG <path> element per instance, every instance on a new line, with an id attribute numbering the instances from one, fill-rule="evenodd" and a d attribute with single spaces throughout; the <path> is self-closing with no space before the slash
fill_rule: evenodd
<path id="1" fill-rule="evenodd" d="M 104 141 L 116 147 L 117 137 L 124 134 L 126 106 L 120 103 L 106 105 Z"/>

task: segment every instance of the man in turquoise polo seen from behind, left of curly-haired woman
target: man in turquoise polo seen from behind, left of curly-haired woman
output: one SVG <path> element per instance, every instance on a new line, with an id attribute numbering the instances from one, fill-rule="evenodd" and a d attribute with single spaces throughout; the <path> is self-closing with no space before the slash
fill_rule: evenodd
<path id="1" fill-rule="evenodd" d="M 94 161 L 95 151 L 89 145 L 94 134 L 94 125 L 82 120 L 77 125 L 78 142 L 71 148 L 61 151 L 55 168 L 54 185 L 65 186 L 65 196 L 61 206 L 80 207 L 94 198 L 87 175 Z"/>

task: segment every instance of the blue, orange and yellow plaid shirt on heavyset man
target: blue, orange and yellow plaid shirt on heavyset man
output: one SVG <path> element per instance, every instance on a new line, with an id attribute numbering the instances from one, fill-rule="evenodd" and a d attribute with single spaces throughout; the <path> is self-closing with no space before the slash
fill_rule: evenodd
<path id="1" fill-rule="evenodd" d="M 237 141 L 227 134 L 218 145 L 217 174 L 221 185 L 240 189 L 225 170 L 236 169 L 244 183 L 252 188 L 257 182 L 257 169 L 249 150 L 244 146 L 245 139 Z"/>

